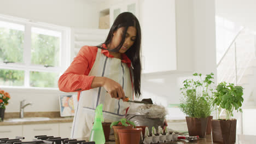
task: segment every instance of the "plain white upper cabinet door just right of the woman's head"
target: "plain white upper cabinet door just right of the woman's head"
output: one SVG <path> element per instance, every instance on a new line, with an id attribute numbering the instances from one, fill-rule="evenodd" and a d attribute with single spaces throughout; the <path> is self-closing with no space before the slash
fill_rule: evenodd
<path id="1" fill-rule="evenodd" d="M 174 0 L 141 1 L 142 73 L 177 69 Z"/>

